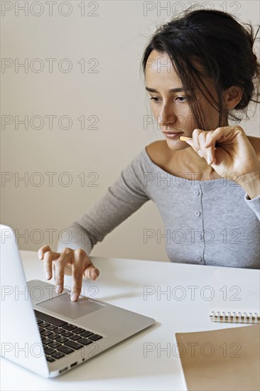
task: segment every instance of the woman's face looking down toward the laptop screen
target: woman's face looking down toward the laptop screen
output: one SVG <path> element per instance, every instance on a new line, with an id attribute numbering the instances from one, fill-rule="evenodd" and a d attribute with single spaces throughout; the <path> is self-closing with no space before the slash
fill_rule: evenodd
<path id="1" fill-rule="evenodd" d="M 205 85 L 217 100 L 217 93 L 210 82 L 205 82 Z M 176 91 L 169 91 L 171 89 Z M 153 50 L 149 55 L 146 63 L 146 90 L 152 98 L 150 102 L 153 116 L 166 138 L 168 147 L 173 150 L 188 148 L 188 144 L 180 141 L 180 136 L 192 137 L 197 124 L 188 105 L 188 97 L 185 97 L 181 80 L 175 73 L 166 53 Z M 197 90 L 196 94 L 207 122 L 205 130 L 216 129 L 218 126 L 217 110 L 207 102 L 202 92 Z M 175 134 L 167 136 L 165 132 L 175 132 Z"/>

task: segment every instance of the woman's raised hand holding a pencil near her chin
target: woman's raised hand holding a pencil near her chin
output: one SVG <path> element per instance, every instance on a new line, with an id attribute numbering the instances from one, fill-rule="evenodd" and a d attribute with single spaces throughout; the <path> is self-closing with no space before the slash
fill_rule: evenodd
<path id="1" fill-rule="evenodd" d="M 242 127 L 219 127 L 210 131 L 195 129 L 193 140 L 186 142 L 229 181 L 243 182 L 243 178 L 259 175 L 259 159 Z"/>

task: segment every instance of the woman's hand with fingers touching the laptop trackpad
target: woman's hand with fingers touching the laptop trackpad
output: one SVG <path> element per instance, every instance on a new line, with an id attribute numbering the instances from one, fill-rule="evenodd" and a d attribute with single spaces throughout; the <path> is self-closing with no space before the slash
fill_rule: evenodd
<path id="1" fill-rule="evenodd" d="M 63 291 L 64 274 L 72 275 L 72 301 L 76 301 L 80 296 L 82 278 L 94 280 L 99 277 L 99 270 L 94 267 L 86 252 L 80 248 L 76 250 L 65 248 L 62 252 L 54 252 L 50 246 L 45 245 L 38 250 L 38 257 L 43 259 L 46 279 L 52 278 L 54 262 L 57 293 Z"/>

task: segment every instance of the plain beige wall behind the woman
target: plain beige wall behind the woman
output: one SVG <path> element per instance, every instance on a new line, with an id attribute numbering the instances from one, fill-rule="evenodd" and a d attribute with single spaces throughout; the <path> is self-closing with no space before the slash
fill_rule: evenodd
<path id="1" fill-rule="evenodd" d="M 28 15 L 17 8 L 26 6 L 26 1 L 1 1 L 1 55 L 11 59 L 5 60 L 1 73 L 1 115 L 2 120 L 13 121 L 1 129 L 1 170 L 10 179 L 1 189 L 1 223 L 16 228 L 18 235 L 27 232 L 18 241 L 23 250 L 51 243 L 50 230 L 55 232 L 55 249 L 58 232 L 88 210 L 144 146 L 163 139 L 156 126 L 143 129 L 143 117 L 151 112 L 139 72 L 141 55 L 156 26 L 195 1 L 161 1 L 162 7 L 168 4 L 173 11 L 163 11 L 158 1 L 84 3 L 85 16 L 80 14 L 83 1 L 56 1 L 50 16 L 46 1 L 28 1 Z M 259 23 L 259 1 L 200 4 L 227 7 L 243 21 Z M 52 73 L 48 58 L 56 59 Z M 67 73 L 65 58 L 72 65 Z M 16 69 L 25 59 L 28 72 Z M 43 69 L 37 72 L 39 65 Z M 56 116 L 53 129 L 50 115 Z M 28 129 L 16 124 L 16 116 L 28 116 Z M 41 117 L 42 129 L 33 129 L 40 128 L 39 119 L 32 122 L 34 116 Z M 68 124 L 65 117 L 59 124 L 62 116 L 70 118 L 70 129 L 63 129 Z M 85 129 L 80 129 L 82 116 Z M 91 124 L 97 129 L 87 129 Z M 259 136 L 259 109 L 242 126 L 247 134 Z M 48 172 L 54 173 L 53 186 Z M 65 172 L 72 180 L 67 187 Z M 94 174 L 88 177 L 90 173 Z M 28 186 L 24 181 L 15 183 L 17 176 L 26 175 Z M 43 183 L 36 186 L 39 180 Z M 143 243 L 147 228 L 164 233 L 152 201 L 97 244 L 92 255 L 168 261 L 165 239 L 157 243 L 156 235 Z"/>

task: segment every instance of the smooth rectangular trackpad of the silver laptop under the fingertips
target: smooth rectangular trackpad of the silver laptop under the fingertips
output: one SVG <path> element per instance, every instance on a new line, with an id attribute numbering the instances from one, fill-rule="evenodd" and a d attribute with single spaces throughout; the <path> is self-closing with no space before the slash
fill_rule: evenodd
<path id="1" fill-rule="evenodd" d="M 62 316 L 67 316 L 72 319 L 80 318 L 90 314 L 91 312 L 103 309 L 104 304 L 96 303 L 91 299 L 78 299 L 78 301 L 70 300 L 70 294 L 60 294 L 59 296 L 43 301 L 36 306 L 49 309 L 50 311 L 56 312 Z"/>

